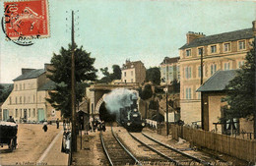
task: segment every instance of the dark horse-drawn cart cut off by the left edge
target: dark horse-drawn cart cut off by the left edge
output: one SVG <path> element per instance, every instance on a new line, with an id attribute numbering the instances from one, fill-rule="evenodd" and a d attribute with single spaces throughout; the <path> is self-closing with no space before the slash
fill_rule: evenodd
<path id="1" fill-rule="evenodd" d="M 13 151 L 17 146 L 18 125 L 13 122 L 0 122 L 0 145 L 8 145 Z"/>

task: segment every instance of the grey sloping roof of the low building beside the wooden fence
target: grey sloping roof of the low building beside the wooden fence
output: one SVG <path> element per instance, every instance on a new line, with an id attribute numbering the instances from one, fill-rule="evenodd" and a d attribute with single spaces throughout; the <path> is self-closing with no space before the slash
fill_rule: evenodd
<path id="1" fill-rule="evenodd" d="M 225 86 L 235 78 L 237 70 L 217 71 L 197 91 L 223 91 Z"/>

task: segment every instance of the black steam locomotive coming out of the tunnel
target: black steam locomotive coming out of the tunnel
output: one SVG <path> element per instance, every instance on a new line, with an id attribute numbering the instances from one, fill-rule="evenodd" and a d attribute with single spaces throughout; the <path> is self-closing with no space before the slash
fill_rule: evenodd
<path id="1" fill-rule="evenodd" d="M 119 123 L 129 132 L 142 132 L 145 127 L 145 120 L 142 119 L 141 113 L 138 110 L 136 96 L 131 95 L 132 104 L 119 110 Z"/>

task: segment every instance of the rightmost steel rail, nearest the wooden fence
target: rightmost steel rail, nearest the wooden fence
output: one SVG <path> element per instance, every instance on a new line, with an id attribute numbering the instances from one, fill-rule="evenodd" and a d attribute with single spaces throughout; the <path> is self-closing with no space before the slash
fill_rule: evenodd
<path id="1" fill-rule="evenodd" d="M 149 138 L 149 139 L 151 139 L 151 140 L 153 140 L 153 141 L 159 143 L 160 145 L 162 145 L 162 146 L 164 146 L 164 147 L 166 147 L 166 148 L 171 149 L 172 151 L 175 151 L 175 152 L 177 152 L 177 153 L 180 153 L 180 154 L 182 154 L 182 155 L 184 155 L 184 156 L 186 156 L 186 157 L 188 157 L 188 158 L 191 158 L 191 159 L 193 159 L 193 160 L 195 160 L 195 161 L 197 161 L 197 162 L 199 162 L 199 163 L 202 163 L 202 164 L 204 164 L 204 165 L 212 165 L 212 164 L 210 164 L 210 163 L 207 162 L 207 161 L 204 161 L 204 160 L 202 160 L 202 159 L 200 159 L 200 158 L 197 158 L 197 157 L 195 157 L 195 156 L 193 156 L 193 155 L 190 155 L 190 154 L 187 154 L 187 153 L 185 153 L 185 152 L 182 152 L 182 151 L 180 151 L 180 150 L 178 150 L 178 149 L 176 149 L 176 148 L 174 148 L 174 147 L 172 147 L 172 146 L 170 146 L 170 145 L 163 144 L 163 143 L 160 142 L 159 140 L 157 140 L 157 139 L 155 139 L 155 138 L 151 138 L 151 137 L 149 137 L 148 135 L 146 135 L 146 134 L 144 134 L 144 133 L 142 133 L 142 135 L 145 136 L 146 138 Z"/>

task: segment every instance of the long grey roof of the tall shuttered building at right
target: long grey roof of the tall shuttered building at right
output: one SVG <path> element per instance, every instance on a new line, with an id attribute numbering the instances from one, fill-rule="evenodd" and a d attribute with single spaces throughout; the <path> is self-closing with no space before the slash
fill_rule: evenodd
<path id="1" fill-rule="evenodd" d="M 235 31 L 224 32 L 220 34 L 209 35 L 205 37 L 196 38 L 190 43 L 186 43 L 179 49 L 203 46 L 203 45 L 210 45 L 215 43 L 222 43 L 225 41 L 235 41 L 239 39 L 247 39 L 253 37 L 253 30 L 252 28 L 244 28 Z"/>

